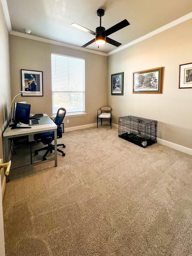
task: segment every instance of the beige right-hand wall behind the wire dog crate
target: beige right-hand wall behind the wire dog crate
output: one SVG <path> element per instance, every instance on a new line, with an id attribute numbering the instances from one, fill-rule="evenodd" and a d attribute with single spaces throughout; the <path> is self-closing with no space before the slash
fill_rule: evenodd
<path id="1" fill-rule="evenodd" d="M 179 65 L 192 62 L 192 19 L 108 56 L 107 103 L 120 116 L 158 121 L 158 137 L 192 148 L 192 89 L 179 89 Z M 133 94 L 133 72 L 164 67 L 163 94 Z M 111 95 L 111 74 L 124 72 L 124 95 Z"/>

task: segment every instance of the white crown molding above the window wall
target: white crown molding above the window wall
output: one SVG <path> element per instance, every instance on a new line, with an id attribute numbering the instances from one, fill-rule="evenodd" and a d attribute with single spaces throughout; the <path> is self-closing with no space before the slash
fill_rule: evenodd
<path id="1" fill-rule="evenodd" d="M 55 44 L 55 45 L 59 45 L 59 46 L 63 46 L 63 47 L 67 47 L 67 48 L 71 48 L 71 49 L 75 49 L 75 50 L 80 50 L 80 51 L 84 51 L 84 52 L 88 52 L 88 53 L 94 53 L 94 54 L 107 56 L 107 53 L 97 52 L 97 51 L 94 51 L 94 50 L 81 48 L 79 46 L 74 46 L 74 45 L 71 45 L 71 44 L 65 44 L 65 43 L 61 43 L 61 42 L 58 42 L 58 41 L 53 41 L 53 40 L 38 37 L 38 36 L 35 36 L 35 35 L 28 35 L 28 34 L 24 34 L 24 33 L 13 31 L 13 30 L 11 30 L 9 32 L 9 34 L 24 37 L 24 38 L 29 38 L 29 39 L 36 40 L 36 41 L 41 41 L 41 42 L 48 43 L 48 44 Z"/>

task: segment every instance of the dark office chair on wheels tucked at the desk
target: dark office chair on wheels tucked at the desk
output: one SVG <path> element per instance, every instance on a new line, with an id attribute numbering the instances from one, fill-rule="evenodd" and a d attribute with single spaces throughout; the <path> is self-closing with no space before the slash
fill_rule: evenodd
<path id="1" fill-rule="evenodd" d="M 53 120 L 53 122 L 57 125 L 57 139 L 62 138 L 62 128 L 61 128 L 61 123 L 63 122 L 63 119 L 65 117 L 67 110 L 63 107 L 59 108 L 57 111 L 57 115 L 55 117 L 55 119 Z M 50 152 L 52 153 L 52 151 L 55 149 L 55 145 L 52 145 L 52 141 L 54 140 L 54 132 L 44 132 L 44 133 L 38 133 L 38 134 L 34 134 L 34 140 L 40 140 L 44 145 L 48 145 L 42 149 L 37 149 L 35 150 L 35 155 L 38 155 L 39 151 L 42 150 L 46 150 L 44 156 L 43 156 L 43 160 L 46 160 L 46 155 Z M 57 144 L 58 146 L 63 146 L 63 148 L 65 148 L 64 144 Z M 62 156 L 65 156 L 65 153 L 60 150 L 57 149 L 58 152 L 62 153 Z"/>

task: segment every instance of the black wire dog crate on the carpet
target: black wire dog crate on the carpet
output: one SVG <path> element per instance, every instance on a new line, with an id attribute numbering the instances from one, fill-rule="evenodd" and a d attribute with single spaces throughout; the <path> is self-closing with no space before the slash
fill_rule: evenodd
<path id="1" fill-rule="evenodd" d="M 157 143 L 157 121 L 137 116 L 119 117 L 118 136 L 146 148 Z"/>

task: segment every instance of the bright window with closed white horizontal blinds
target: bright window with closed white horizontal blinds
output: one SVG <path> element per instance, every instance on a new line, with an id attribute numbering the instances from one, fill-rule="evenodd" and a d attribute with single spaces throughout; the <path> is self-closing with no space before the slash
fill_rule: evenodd
<path id="1" fill-rule="evenodd" d="M 85 112 L 85 59 L 51 54 L 52 111 L 60 107 L 67 114 Z"/>

